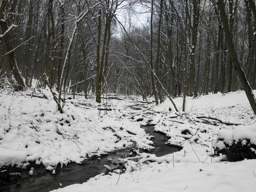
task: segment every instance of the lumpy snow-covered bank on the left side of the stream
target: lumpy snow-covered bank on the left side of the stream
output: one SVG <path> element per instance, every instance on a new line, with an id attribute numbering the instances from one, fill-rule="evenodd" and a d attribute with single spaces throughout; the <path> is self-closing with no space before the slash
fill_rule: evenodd
<path id="1" fill-rule="evenodd" d="M 51 98 L 49 91 L 41 91 Z M 53 100 L 26 93 L 2 92 L 0 103 L 0 166 L 25 167 L 35 161 L 52 170 L 58 163 L 80 163 L 87 156 L 133 145 L 131 140 L 152 143 L 139 123 L 98 117 L 97 108 L 66 102 L 61 114 Z"/>

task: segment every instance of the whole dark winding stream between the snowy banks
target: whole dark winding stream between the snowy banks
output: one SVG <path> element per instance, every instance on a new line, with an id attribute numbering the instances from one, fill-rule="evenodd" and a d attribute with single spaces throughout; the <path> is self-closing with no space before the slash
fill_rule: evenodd
<path id="1" fill-rule="evenodd" d="M 168 140 L 163 133 L 157 133 L 153 131 L 152 126 L 141 126 L 145 129 L 146 133 L 153 135 L 152 138 L 154 142 L 155 149 L 151 152 L 145 151 L 147 153 L 155 154 L 156 156 L 163 156 L 165 154 L 173 153 L 179 151 L 180 148 L 173 146 L 166 146 L 164 143 Z M 131 153 L 131 148 L 126 148 L 122 150 L 116 150 L 114 152 L 108 153 L 108 155 L 102 155 L 100 161 L 98 158 L 90 158 L 84 160 L 81 164 L 69 163 L 67 166 L 63 165 L 62 168 L 58 165 L 55 174 L 47 171 L 45 167 L 41 165 L 35 165 L 33 176 L 29 176 L 27 170 L 17 171 L 10 170 L 11 172 L 19 172 L 20 176 L 10 176 L 7 184 L 0 183 L 0 191 L 2 192 L 38 192 L 38 191 L 51 191 L 58 189 L 60 187 L 65 187 L 68 185 L 76 183 L 84 183 L 91 177 L 99 175 L 101 173 L 107 174 L 109 170 L 106 170 L 104 165 L 108 165 L 111 170 L 120 169 L 118 164 L 118 158 Z M 109 161 L 109 159 L 112 161 Z M 111 171 L 110 170 L 110 171 Z M 1 179 L 1 178 L 0 178 Z M 1 180 L 0 180 L 1 182 Z M 60 185 L 61 184 L 61 185 Z"/>

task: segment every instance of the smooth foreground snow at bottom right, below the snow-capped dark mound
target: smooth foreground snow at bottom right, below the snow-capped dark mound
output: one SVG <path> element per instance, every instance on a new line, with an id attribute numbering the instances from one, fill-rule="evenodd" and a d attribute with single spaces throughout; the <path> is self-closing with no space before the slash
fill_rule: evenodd
<path id="1" fill-rule="evenodd" d="M 256 160 L 216 163 L 172 163 L 142 167 L 132 173 L 91 178 L 55 192 L 84 191 L 255 191 Z M 167 168 L 168 167 L 168 168 Z M 118 181 L 118 183 L 117 183 Z M 117 183 L 117 184 L 116 184 Z"/>

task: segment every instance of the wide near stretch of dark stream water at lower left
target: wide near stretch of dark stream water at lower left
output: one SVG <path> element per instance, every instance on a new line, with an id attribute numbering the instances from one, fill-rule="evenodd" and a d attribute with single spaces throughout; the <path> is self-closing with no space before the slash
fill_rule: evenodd
<path id="1" fill-rule="evenodd" d="M 20 173 L 21 178 L 16 182 L 11 182 L 9 185 L 0 185 L 0 191 L 4 192 L 41 192 L 58 189 L 76 183 L 84 183 L 91 177 L 101 173 L 108 173 L 104 165 L 108 165 L 110 169 L 120 168 L 118 158 L 124 155 L 128 156 L 130 148 L 125 150 L 117 150 L 108 155 L 95 159 L 87 159 L 82 164 L 69 163 L 67 166 L 63 165 L 62 168 L 57 166 L 55 174 L 47 171 L 43 165 L 33 166 L 34 174 L 29 176 L 30 169 L 23 170 Z M 107 158 L 111 158 L 109 161 Z M 60 183 L 62 186 L 60 186 Z"/>

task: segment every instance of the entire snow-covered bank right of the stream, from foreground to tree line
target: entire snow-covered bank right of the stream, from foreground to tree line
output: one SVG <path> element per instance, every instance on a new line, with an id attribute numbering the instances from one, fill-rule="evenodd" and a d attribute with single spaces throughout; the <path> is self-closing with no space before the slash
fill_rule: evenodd
<path id="1" fill-rule="evenodd" d="M 174 101 L 179 108 L 182 106 L 182 98 Z M 236 126 L 229 123 L 246 126 L 256 120 L 244 92 L 225 96 L 218 93 L 194 100 L 189 98 L 186 112 L 191 116 L 187 119 L 177 115 L 175 118 L 172 112 L 168 112 L 170 106 L 169 101 L 154 106 L 155 111 L 164 112 L 158 115 L 159 123 L 155 130 L 169 135 L 169 143 L 181 145 L 183 149 L 180 152 L 163 157 L 143 153 L 138 157 L 126 158 L 124 174 L 99 175 L 87 183 L 54 191 L 254 191 L 255 159 L 221 162 L 222 156 L 210 156 L 214 155 L 212 145 L 220 128 L 232 130 Z M 189 121 L 193 117 L 195 120 L 198 114 L 219 118 L 228 125 L 205 124 L 207 118 L 197 119 L 201 122 Z M 208 120 L 210 124 L 215 122 Z"/>

